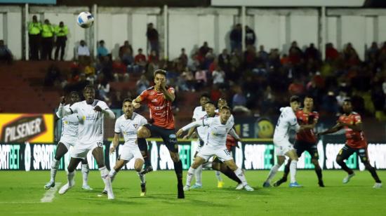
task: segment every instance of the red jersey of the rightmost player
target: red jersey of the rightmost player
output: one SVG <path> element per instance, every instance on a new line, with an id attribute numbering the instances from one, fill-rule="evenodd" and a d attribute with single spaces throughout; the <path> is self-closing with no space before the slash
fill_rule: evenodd
<path id="1" fill-rule="evenodd" d="M 343 123 L 348 123 L 351 125 L 355 125 L 357 123 L 361 123 L 361 115 L 357 114 L 356 112 L 352 112 L 350 115 L 342 114 L 342 116 L 339 117 L 339 121 Z M 352 130 L 349 127 L 345 127 L 346 130 L 346 144 L 349 147 L 352 147 L 353 149 L 361 149 L 367 147 L 367 141 L 364 137 L 363 131 L 356 131 Z"/>

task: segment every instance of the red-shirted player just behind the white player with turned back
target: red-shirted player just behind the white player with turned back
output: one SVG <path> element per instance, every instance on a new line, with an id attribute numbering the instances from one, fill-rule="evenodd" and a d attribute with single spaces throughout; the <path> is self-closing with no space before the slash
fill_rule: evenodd
<path id="1" fill-rule="evenodd" d="M 295 113 L 296 119 L 298 119 L 298 123 L 300 126 L 311 125 L 312 128 L 299 130 L 298 133 L 296 133 L 295 144 L 293 145 L 293 147 L 295 148 L 298 157 L 302 156 L 302 153 L 304 151 L 308 151 L 308 153 L 310 153 L 312 157 L 311 161 L 315 166 L 315 173 L 317 173 L 318 176 L 318 184 L 320 187 L 324 187 L 321 175 L 321 167 L 319 166 L 318 162 L 319 154 L 317 149 L 317 136 L 314 134 L 314 127 L 317 125 L 319 114 L 318 112 L 312 112 L 312 109 L 314 107 L 314 99 L 311 96 L 306 96 L 303 101 L 303 104 L 304 108 L 298 109 L 298 111 Z M 274 187 L 278 187 L 281 183 L 287 181 L 290 165 L 291 160 L 288 160 L 288 163 L 284 168 L 283 177 L 281 177 L 281 179 L 277 182 L 274 182 Z"/>

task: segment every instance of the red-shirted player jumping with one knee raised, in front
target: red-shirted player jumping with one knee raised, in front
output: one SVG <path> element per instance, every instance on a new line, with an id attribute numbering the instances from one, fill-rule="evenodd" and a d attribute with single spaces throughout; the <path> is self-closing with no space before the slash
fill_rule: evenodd
<path id="1" fill-rule="evenodd" d="M 138 138 L 160 136 L 164 140 L 174 162 L 174 170 L 178 180 L 178 198 L 185 198 L 182 184 L 182 162 L 178 155 L 174 116 L 171 109 L 174 100 L 174 88 L 166 86 L 166 71 L 157 69 L 154 71 L 154 86 L 147 88 L 135 98 L 133 106 L 138 109 L 140 103 L 145 103 L 149 107 L 150 121 L 138 129 Z M 140 139 L 138 139 L 139 142 Z"/>

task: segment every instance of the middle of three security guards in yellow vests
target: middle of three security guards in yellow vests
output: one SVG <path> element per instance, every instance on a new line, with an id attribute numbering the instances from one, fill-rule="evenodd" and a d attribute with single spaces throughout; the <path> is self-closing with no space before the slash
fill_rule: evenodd
<path id="1" fill-rule="evenodd" d="M 41 59 L 52 60 L 51 53 L 53 50 L 53 34 L 55 33 L 53 26 L 49 20 L 44 20 L 41 27 Z"/>

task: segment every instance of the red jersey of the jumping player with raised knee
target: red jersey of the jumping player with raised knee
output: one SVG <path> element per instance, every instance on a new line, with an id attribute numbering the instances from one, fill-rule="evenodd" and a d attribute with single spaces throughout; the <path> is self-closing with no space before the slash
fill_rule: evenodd
<path id="1" fill-rule="evenodd" d="M 169 93 L 174 93 L 173 87 L 168 87 Z M 157 92 L 154 86 L 147 88 L 140 94 L 141 102 L 147 103 L 149 107 L 150 119 L 154 126 L 165 129 L 174 129 L 174 116 L 171 110 L 171 101 L 164 98 L 164 93 Z"/>

